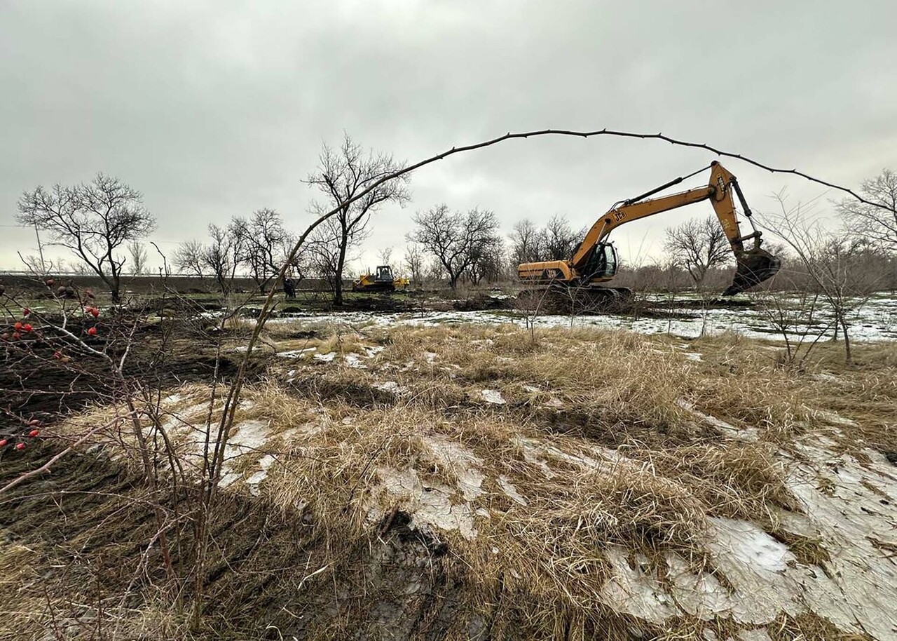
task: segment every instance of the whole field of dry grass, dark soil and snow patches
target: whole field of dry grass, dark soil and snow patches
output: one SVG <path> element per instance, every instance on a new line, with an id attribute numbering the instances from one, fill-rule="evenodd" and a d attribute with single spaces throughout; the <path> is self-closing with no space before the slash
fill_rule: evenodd
<path id="1" fill-rule="evenodd" d="M 0 493 L 0 638 L 894 638 L 893 299 L 849 366 L 698 303 L 283 301 L 245 364 L 252 313 L 202 295 L 73 316 L 128 346 L 128 396 L 55 358 L 33 300 L 2 376 L 3 434 L 40 435 L 0 452 L 0 487 L 32 473 Z"/>

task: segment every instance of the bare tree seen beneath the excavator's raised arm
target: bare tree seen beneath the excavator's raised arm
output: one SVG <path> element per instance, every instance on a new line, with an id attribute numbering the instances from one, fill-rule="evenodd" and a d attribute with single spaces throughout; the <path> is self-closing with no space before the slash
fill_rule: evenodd
<path id="1" fill-rule="evenodd" d="M 688 271 L 695 289 L 701 287 L 710 268 L 726 264 L 732 256 L 726 233 L 712 215 L 667 228 L 664 250 Z"/>

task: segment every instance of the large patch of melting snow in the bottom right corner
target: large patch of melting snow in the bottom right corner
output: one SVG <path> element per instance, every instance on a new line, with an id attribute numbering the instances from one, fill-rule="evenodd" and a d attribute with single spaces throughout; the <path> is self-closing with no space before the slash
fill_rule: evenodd
<path id="1" fill-rule="evenodd" d="M 897 470 L 883 457 L 861 464 L 828 450 L 816 435 L 795 445 L 802 456 L 794 462 L 788 487 L 806 514 L 781 511 L 778 518 L 787 531 L 823 546 L 830 557 L 824 571 L 805 565 L 754 522 L 714 517 L 708 518 L 704 547 L 726 585 L 710 573 L 695 574 L 688 561 L 672 553 L 666 555 L 666 583 L 659 584 L 653 570 L 642 564 L 632 568 L 611 550 L 614 576 L 602 593 L 608 605 L 656 622 L 684 611 L 744 626 L 768 625 L 782 612 L 809 611 L 845 633 L 895 638 L 897 564 L 876 543 L 897 545 Z M 737 638 L 768 637 L 758 629 Z"/>

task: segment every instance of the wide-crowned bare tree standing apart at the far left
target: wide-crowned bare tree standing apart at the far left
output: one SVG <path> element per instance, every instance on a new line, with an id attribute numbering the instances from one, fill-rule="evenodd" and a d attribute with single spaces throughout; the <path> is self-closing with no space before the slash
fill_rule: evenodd
<path id="1" fill-rule="evenodd" d="M 126 260 L 119 254 L 121 246 L 155 229 L 140 192 L 103 173 L 74 187 L 26 191 L 17 218 L 20 224 L 48 231 L 52 244 L 71 250 L 109 287 L 113 303 L 121 300 Z"/>

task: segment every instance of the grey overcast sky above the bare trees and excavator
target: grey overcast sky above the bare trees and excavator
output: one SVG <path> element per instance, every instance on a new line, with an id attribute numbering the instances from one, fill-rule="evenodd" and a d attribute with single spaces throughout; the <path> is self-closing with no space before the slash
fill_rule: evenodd
<path id="1" fill-rule="evenodd" d="M 623 4 L 0 0 L 0 225 L 22 190 L 105 171 L 144 193 L 163 250 L 263 206 L 299 230 L 313 197 L 301 180 L 344 131 L 409 162 L 507 131 L 609 127 L 847 186 L 897 169 L 893 0 Z M 388 246 L 398 262 L 417 209 L 486 207 L 504 233 L 554 214 L 579 227 L 712 159 L 612 138 L 460 154 L 414 175 L 412 202 L 377 215 L 353 268 Z M 726 164 L 760 210 L 783 187 L 822 193 Z M 624 259 L 657 256 L 667 225 L 710 211 L 613 240 Z M 0 268 L 34 248 L 0 227 Z"/>

